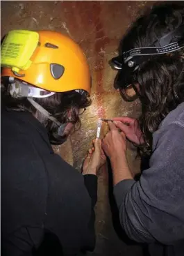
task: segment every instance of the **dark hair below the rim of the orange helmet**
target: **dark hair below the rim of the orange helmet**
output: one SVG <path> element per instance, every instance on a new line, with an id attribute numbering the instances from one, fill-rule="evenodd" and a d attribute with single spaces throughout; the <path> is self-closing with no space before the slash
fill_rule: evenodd
<path id="1" fill-rule="evenodd" d="M 8 111 L 27 111 L 35 114 L 37 110 L 26 98 L 12 98 L 8 90 L 8 84 L 1 85 L 1 106 Z M 67 91 L 55 93 L 47 98 L 34 98 L 35 102 L 40 104 L 60 123 L 72 122 L 75 124 L 75 130 L 81 126 L 79 110 L 90 106 L 91 100 L 86 93 L 80 94 L 76 91 Z M 70 118 L 69 118 L 70 116 Z M 58 135 L 58 126 L 46 116 L 37 112 L 37 119 L 47 128 L 51 144 L 60 144 L 62 136 Z"/>

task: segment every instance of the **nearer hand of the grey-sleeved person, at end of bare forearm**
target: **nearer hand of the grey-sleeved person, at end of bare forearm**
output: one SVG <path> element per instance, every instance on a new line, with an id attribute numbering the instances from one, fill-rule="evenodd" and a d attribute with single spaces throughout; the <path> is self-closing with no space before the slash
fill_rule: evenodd
<path id="1" fill-rule="evenodd" d="M 111 121 L 108 121 L 108 126 L 110 132 L 102 141 L 102 149 L 109 158 L 121 157 L 126 153 L 126 136 L 123 132 L 119 133 L 118 128 Z"/>

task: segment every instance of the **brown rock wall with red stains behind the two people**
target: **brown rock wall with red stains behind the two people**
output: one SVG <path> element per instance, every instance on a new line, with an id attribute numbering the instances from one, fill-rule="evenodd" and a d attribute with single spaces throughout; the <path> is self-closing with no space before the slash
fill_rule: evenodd
<path id="1" fill-rule="evenodd" d="M 116 72 L 108 61 L 117 54 L 119 40 L 126 29 L 155 1 L 2 1 L 1 36 L 10 29 L 51 29 L 71 36 L 83 48 L 92 73 L 92 105 L 81 116 L 81 130 L 54 150 L 68 163 L 81 170 L 83 158 L 97 133 L 99 118 L 137 117 L 139 100 L 125 102 L 113 88 Z M 132 95 L 133 91 L 128 91 Z M 102 135 L 108 131 L 103 127 Z M 139 172 L 140 160 L 128 144 L 128 162 Z M 127 246 L 112 225 L 108 199 L 108 172 L 99 175 L 99 199 L 96 206 L 97 246 L 90 255 L 142 255 L 139 246 Z M 118 217 L 117 217 L 118 218 Z"/>

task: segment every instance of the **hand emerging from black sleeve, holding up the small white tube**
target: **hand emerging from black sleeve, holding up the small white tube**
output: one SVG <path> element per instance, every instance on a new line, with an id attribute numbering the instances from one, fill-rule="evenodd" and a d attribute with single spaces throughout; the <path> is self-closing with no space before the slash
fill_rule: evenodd
<path id="1" fill-rule="evenodd" d="M 87 157 L 83 163 L 83 172 L 82 174 L 94 174 L 97 175 L 97 172 L 102 165 L 106 163 L 106 156 L 101 149 L 101 140 L 96 139 L 93 141 L 94 147 L 89 149 Z"/>

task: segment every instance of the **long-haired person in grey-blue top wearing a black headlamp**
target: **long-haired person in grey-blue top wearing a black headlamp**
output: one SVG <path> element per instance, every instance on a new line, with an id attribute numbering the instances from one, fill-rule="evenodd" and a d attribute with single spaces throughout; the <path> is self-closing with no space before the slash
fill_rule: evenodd
<path id="1" fill-rule="evenodd" d="M 121 225 L 131 239 L 149 243 L 150 255 L 184 255 L 183 3 L 154 6 L 138 18 L 111 65 L 116 88 L 126 96 L 132 86 L 142 103 L 138 121 L 113 119 L 102 142 Z M 138 180 L 127 163 L 126 138 L 151 157 Z"/>

